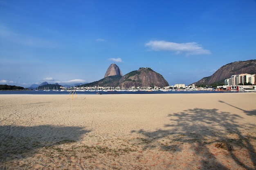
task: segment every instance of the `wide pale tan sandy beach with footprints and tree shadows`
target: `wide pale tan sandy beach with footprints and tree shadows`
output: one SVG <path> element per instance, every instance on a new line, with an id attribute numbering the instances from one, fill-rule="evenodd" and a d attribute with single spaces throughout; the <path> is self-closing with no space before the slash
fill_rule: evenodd
<path id="1" fill-rule="evenodd" d="M 253 170 L 256 93 L 0 95 L 0 170 Z"/>

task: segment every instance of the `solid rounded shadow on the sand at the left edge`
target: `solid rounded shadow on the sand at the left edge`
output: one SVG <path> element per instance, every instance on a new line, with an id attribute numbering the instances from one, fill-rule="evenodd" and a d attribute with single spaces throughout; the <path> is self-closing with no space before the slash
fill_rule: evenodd
<path id="1" fill-rule="evenodd" d="M 0 163 L 7 158 L 28 157 L 45 146 L 79 141 L 88 130 L 67 126 L 0 126 Z"/>

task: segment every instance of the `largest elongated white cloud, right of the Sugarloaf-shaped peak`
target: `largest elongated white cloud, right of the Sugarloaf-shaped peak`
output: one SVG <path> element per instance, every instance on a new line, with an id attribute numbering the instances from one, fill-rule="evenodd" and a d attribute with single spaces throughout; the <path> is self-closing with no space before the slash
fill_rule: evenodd
<path id="1" fill-rule="evenodd" d="M 209 50 L 203 49 L 197 42 L 176 43 L 167 41 L 150 41 L 145 44 L 153 51 L 175 51 L 176 54 L 185 53 L 186 55 L 211 54 Z"/>

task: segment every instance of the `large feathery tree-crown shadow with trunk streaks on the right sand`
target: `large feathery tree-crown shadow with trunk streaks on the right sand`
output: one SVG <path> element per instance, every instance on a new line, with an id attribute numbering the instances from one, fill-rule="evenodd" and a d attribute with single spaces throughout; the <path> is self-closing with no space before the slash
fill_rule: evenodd
<path id="1" fill-rule="evenodd" d="M 240 157 L 234 154 L 234 149 L 243 148 L 249 154 L 250 161 L 256 165 L 256 152 L 252 144 L 252 141 L 256 141 L 256 137 L 252 133 L 244 134 L 241 131 L 241 129 L 245 128 L 245 125 L 239 124 L 238 119 L 242 118 L 239 115 L 222 112 L 216 108 L 194 108 L 180 113 L 170 113 L 168 117 L 170 117 L 170 124 L 164 125 L 163 128 L 165 130 L 138 130 L 132 132 L 143 135 L 145 141 L 160 142 L 169 139 L 168 146 L 161 146 L 161 149 L 169 149 L 173 153 L 182 152 L 183 144 L 190 144 L 190 149 L 193 150 L 193 154 L 197 157 L 202 157 L 201 152 L 204 151 L 209 159 L 200 161 L 200 168 L 202 169 L 228 169 L 222 162 L 218 161 L 217 157 L 208 148 L 209 145 L 216 146 L 222 143 L 225 144 L 225 149 L 228 150 L 237 167 L 248 170 L 255 168 L 255 166 L 254 168 L 248 166 L 247 162 L 242 161 Z M 247 126 L 255 128 L 255 125 Z M 236 137 L 234 138 L 232 135 Z M 175 145 L 172 146 L 170 143 Z M 143 144 L 144 149 L 156 147 L 156 145 L 152 145 L 149 142 L 148 144 Z"/>

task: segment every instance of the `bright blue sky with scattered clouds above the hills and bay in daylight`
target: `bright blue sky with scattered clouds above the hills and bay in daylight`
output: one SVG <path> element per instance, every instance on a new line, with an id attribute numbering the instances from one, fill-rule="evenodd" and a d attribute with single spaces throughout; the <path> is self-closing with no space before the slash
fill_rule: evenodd
<path id="1" fill-rule="evenodd" d="M 255 0 L 0 0 L 0 84 L 84 84 L 115 62 L 189 85 L 252 59 Z"/>

